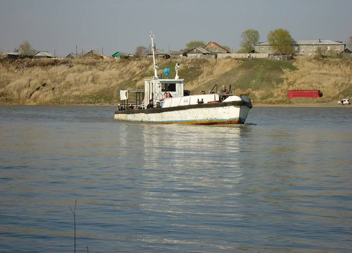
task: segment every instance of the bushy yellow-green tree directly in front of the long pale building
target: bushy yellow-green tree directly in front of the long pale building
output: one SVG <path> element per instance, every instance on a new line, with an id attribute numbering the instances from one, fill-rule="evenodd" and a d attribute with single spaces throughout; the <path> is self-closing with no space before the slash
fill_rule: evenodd
<path id="1" fill-rule="evenodd" d="M 294 52 L 293 47 L 291 46 L 293 38 L 286 29 L 280 28 L 270 31 L 267 39 L 277 53 L 289 55 Z"/>

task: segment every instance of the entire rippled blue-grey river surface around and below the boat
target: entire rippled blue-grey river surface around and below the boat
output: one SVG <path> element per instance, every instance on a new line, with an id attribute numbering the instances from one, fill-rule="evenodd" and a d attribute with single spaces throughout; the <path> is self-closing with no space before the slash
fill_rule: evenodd
<path id="1" fill-rule="evenodd" d="M 349 252 L 352 108 L 246 125 L 0 107 L 0 252 Z"/>

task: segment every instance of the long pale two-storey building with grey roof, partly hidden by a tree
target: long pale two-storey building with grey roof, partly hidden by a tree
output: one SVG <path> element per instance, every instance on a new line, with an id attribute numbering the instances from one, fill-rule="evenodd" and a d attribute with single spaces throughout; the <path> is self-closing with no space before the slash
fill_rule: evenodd
<path id="1" fill-rule="evenodd" d="M 344 52 L 346 44 L 330 40 L 300 40 L 291 43 L 295 55 L 314 56 L 319 52 L 326 56 L 336 55 Z M 269 42 L 259 42 L 254 45 L 254 50 L 258 53 L 274 54 L 276 48 Z"/>

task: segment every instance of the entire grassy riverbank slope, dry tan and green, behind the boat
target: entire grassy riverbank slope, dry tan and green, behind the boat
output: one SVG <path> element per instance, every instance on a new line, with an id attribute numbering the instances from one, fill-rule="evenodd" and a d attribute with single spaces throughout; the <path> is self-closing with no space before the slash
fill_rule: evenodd
<path id="1" fill-rule="evenodd" d="M 226 85 L 233 93 L 249 94 L 254 105 L 280 107 L 333 107 L 339 99 L 352 97 L 351 59 L 158 61 L 158 74 L 169 68 L 169 77 L 180 63 L 178 74 L 191 94 Z M 149 58 L 1 60 L 0 105 L 117 105 L 121 89 L 141 89 L 153 74 Z M 292 89 L 319 89 L 323 96 L 289 100 L 287 90 Z"/>

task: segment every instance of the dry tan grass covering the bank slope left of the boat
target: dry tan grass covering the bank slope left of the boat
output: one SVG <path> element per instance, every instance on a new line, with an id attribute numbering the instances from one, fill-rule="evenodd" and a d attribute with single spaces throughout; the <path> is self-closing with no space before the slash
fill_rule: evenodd
<path id="1" fill-rule="evenodd" d="M 48 59 L 27 67 L 32 62 L 28 61 L 6 67 L 0 64 L 0 102 L 70 104 L 77 103 L 75 97 L 80 97 L 83 104 L 89 103 L 84 100 L 85 96 L 131 80 L 150 65 L 146 59 L 124 62 L 74 59 L 68 64 L 54 65 L 53 60 Z"/>

